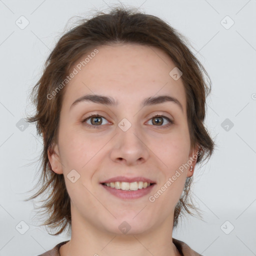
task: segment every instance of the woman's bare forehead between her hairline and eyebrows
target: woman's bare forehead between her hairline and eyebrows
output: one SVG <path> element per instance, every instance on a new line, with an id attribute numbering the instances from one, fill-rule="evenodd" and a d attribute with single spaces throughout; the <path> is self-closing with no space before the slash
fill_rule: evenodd
<path id="1" fill-rule="evenodd" d="M 182 80 L 169 75 L 175 64 L 163 50 L 140 44 L 103 45 L 96 49 L 97 53 L 92 54 L 96 52 L 92 49 L 70 68 L 77 73 L 66 85 L 64 102 L 71 104 L 87 93 L 133 103 L 168 94 L 178 98 L 185 108 Z"/>

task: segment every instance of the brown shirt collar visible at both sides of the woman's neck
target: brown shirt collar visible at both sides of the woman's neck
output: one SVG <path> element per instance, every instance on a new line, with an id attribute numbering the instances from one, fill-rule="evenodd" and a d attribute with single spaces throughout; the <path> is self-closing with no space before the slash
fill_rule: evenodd
<path id="1" fill-rule="evenodd" d="M 68 241 L 60 242 L 51 250 L 48 250 L 38 256 L 60 256 L 59 248 L 61 245 L 65 244 L 66 242 L 68 242 Z M 175 246 L 178 249 L 178 252 L 180 253 L 181 256 L 202 256 L 201 254 L 192 250 L 186 243 L 184 243 L 180 240 L 177 240 L 172 237 L 172 242 L 175 244 Z"/>

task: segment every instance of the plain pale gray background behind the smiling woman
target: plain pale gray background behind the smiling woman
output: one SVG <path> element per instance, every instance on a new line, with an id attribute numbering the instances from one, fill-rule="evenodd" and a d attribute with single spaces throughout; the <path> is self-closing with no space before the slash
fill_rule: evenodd
<path id="1" fill-rule="evenodd" d="M 0 0 L 0 256 L 33 256 L 69 239 L 47 234 L 38 226 L 33 202 L 23 201 L 32 194 L 26 191 L 35 184 L 42 144 L 35 127 L 22 130 L 19 120 L 33 109 L 29 91 L 68 19 L 112 4 L 118 1 Z M 217 147 L 207 164 L 195 169 L 193 186 L 203 221 L 186 217 L 173 237 L 204 256 L 256 255 L 256 0 L 125 5 L 141 6 L 184 34 L 212 80 L 205 125 Z"/>

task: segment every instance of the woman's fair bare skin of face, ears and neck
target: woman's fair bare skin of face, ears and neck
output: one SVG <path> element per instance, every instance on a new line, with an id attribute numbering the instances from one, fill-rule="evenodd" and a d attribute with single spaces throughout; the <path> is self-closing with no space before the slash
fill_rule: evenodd
<path id="1" fill-rule="evenodd" d="M 48 151 L 51 168 L 64 175 L 71 200 L 71 239 L 60 247 L 60 255 L 179 255 L 171 242 L 174 208 L 196 159 L 154 202 L 148 197 L 198 150 L 190 148 L 182 79 L 170 77 L 175 64 L 156 47 L 116 44 L 97 49 L 65 87 L 58 142 L 53 154 Z M 119 105 L 84 101 L 70 109 L 88 93 L 111 96 Z M 140 107 L 145 97 L 163 94 L 176 97 L 183 111 L 174 102 Z M 92 127 L 93 117 L 86 121 L 90 127 L 81 122 L 89 114 L 103 117 L 99 128 Z M 157 125 L 153 114 L 174 123 L 166 127 L 168 120 L 160 118 Z M 122 118 L 131 123 L 126 131 L 118 127 Z M 80 175 L 74 183 L 67 178 L 72 169 Z M 147 177 L 156 185 L 148 195 L 120 199 L 99 184 L 117 175 Z M 118 228 L 123 221 L 131 227 L 126 234 Z"/>

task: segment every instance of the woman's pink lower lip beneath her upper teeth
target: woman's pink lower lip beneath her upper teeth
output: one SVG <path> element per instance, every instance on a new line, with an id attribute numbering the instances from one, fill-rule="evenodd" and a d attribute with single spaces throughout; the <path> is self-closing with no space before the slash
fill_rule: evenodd
<path id="1" fill-rule="evenodd" d="M 108 192 L 110 192 L 111 194 L 122 198 L 122 199 L 136 199 L 136 198 L 140 198 L 142 196 L 145 196 L 146 194 L 148 194 L 153 186 L 155 184 L 152 184 L 150 186 L 147 186 L 146 188 L 141 188 L 141 189 L 137 189 L 137 190 L 122 190 L 122 189 L 116 189 L 116 188 L 112 188 L 110 186 L 106 186 L 101 184 Z"/>

